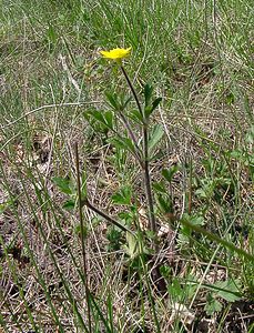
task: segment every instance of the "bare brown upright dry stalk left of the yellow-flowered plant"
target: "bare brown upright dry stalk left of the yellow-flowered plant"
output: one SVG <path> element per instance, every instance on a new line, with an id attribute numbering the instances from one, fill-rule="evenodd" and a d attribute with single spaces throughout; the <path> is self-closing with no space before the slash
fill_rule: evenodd
<path id="1" fill-rule="evenodd" d="M 88 306 L 88 321 L 89 321 L 89 333 L 92 333 L 92 321 L 90 312 L 90 290 L 88 283 L 88 266 L 87 266 L 87 252 L 85 252 L 85 239 L 84 239 L 84 222 L 82 212 L 82 195 L 81 195 L 81 182 L 80 182 L 80 159 L 79 159 L 79 147 L 78 142 L 74 144 L 75 150 L 75 169 L 77 169 L 77 186 L 79 198 L 79 215 L 80 215 L 80 229 L 81 229 L 81 246 L 83 258 L 83 274 L 84 274 L 84 289 L 85 289 L 85 301 Z"/>

